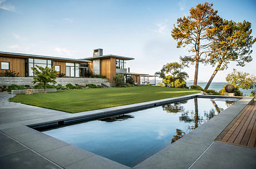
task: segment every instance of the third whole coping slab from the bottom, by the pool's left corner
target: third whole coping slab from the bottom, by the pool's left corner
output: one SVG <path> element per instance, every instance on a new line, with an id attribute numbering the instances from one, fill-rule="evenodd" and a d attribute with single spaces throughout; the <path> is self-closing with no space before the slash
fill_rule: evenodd
<path id="1" fill-rule="evenodd" d="M 22 144 L 25 142 L 29 142 L 29 141 L 36 141 L 36 140 L 40 140 L 40 139 L 43 139 L 46 137 L 50 137 L 50 136 L 43 134 L 42 132 L 39 132 L 36 130 L 34 130 L 33 132 L 26 132 L 26 133 L 18 134 L 18 135 L 10 134 L 9 136 L 11 136 L 15 140 L 18 140 Z"/>

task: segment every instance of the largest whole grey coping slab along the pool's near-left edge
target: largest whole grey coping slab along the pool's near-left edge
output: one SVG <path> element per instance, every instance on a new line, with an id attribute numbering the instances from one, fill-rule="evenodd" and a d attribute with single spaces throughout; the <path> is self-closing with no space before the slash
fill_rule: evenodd
<path id="1" fill-rule="evenodd" d="M 66 167 L 72 163 L 81 161 L 90 156 L 94 156 L 95 154 L 72 145 L 67 145 L 56 148 L 55 150 L 43 152 L 42 155 L 48 159 L 51 159 L 51 161 L 57 163 L 58 165 Z"/>

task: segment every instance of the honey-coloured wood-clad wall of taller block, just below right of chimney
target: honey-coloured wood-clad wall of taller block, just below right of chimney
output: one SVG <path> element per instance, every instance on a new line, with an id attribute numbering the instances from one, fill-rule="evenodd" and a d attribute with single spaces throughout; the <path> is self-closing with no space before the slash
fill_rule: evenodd
<path id="1" fill-rule="evenodd" d="M 115 58 L 108 58 L 108 59 L 101 59 L 101 68 L 100 73 L 101 75 L 105 75 L 110 82 L 113 82 L 113 76 L 116 75 L 116 59 Z"/>

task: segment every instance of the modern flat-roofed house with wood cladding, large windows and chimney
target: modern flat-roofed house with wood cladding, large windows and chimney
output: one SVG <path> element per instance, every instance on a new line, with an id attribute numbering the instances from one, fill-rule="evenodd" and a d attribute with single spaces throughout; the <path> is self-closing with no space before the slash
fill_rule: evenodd
<path id="1" fill-rule="evenodd" d="M 6 70 L 15 71 L 21 77 L 34 76 L 34 66 L 55 66 L 55 70 L 66 77 L 84 77 L 89 71 L 93 75 L 105 75 L 109 82 L 114 82 L 113 76 L 117 73 L 125 74 L 126 78 L 132 76 L 137 84 L 140 84 L 140 78 L 148 79 L 148 74 L 130 73 L 130 68 L 126 68 L 127 60 L 134 58 L 122 57 L 119 55 L 103 55 L 102 49 L 94 49 L 93 57 L 83 59 L 70 59 L 48 57 L 33 54 L 21 54 L 0 52 L 0 73 Z M 147 80 L 148 82 L 149 80 Z"/>

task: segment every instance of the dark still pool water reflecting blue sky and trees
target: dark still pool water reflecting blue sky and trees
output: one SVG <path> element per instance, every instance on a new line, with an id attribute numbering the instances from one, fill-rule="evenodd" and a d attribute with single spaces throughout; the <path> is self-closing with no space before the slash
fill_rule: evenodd
<path id="1" fill-rule="evenodd" d="M 134 167 L 227 109 L 235 101 L 195 98 L 44 133 Z"/>

